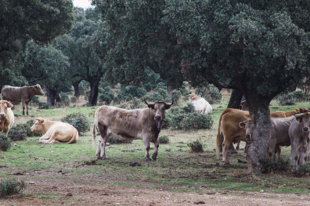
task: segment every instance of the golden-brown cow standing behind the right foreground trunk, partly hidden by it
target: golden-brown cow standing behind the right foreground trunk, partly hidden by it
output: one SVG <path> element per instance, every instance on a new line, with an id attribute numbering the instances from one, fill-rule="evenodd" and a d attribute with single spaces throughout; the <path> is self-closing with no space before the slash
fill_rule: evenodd
<path id="1" fill-rule="evenodd" d="M 302 109 L 301 109 L 302 110 Z M 298 109 L 295 111 L 288 111 L 288 112 L 270 112 L 270 117 L 281 117 L 285 118 L 286 115 L 296 115 L 299 112 Z M 224 141 L 222 144 L 223 148 L 223 162 L 229 164 L 227 151 L 231 142 L 238 142 L 247 141 L 245 138 L 245 130 L 239 127 L 239 123 L 243 122 L 247 119 L 251 119 L 251 116 L 248 111 L 241 111 L 238 109 L 225 109 L 220 118 L 218 123 L 218 130 L 217 130 L 217 137 L 216 137 L 216 157 L 219 159 L 219 152 L 220 152 L 220 142 L 221 142 L 221 135 L 220 130 L 222 130 Z M 276 147 L 277 148 L 277 147 Z"/>

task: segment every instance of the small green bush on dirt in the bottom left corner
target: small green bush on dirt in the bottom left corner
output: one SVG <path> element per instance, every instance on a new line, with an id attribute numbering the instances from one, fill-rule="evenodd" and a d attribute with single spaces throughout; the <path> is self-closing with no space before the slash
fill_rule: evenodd
<path id="1" fill-rule="evenodd" d="M 7 197 L 17 194 L 20 190 L 26 188 L 26 183 L 16 179 L 2 179 L 0 183 L 0 197 Z"/>

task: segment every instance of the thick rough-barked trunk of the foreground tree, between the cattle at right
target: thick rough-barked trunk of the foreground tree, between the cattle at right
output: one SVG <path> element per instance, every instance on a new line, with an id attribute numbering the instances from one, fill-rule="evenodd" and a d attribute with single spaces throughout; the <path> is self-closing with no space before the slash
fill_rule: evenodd
<path id="1" fill-rule="evenodd" d="M 249 112 L 254 123 L 251 140 L 247 143 L 248 172 L 260 173 L 260 160 L 267 158 L 267 144 L 271 136 L 269 103 L 271 99 L 263 98 L 254 92 L 246 94 Z"/>

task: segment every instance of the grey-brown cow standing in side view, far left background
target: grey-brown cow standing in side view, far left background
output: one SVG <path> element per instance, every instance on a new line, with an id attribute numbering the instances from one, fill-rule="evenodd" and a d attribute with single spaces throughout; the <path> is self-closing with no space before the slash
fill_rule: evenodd
<path id="1" fill-rule="evenodd" d="M 1 99 L 8 100 L 14 103 L 22 102 L 23 106 L 23 115 L 25 115 L 25 104 L 26 104 L 26 114 L 28 114 L 29 102 L 31 101 L 34 95 L 44 95 L 44 92 L 41 89 L 39 84 L 34 86 L 9 86 L 6 85 L 2 87 L 1 90 Z"/>

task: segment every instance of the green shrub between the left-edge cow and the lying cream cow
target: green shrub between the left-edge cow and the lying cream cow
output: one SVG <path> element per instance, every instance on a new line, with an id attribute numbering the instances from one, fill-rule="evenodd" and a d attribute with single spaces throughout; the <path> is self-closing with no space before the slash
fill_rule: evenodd
<path id="1" fill-rule="evenodd" d="M 34 120 L 28 120 L 26 123 L 17 124 L 13 126 L 8 134 L 8 137 L 13 141 L 25 140 L 27 137 L 37 136 L 36 133 L 31 132 L 30 127 L 34 124 Z"/>

